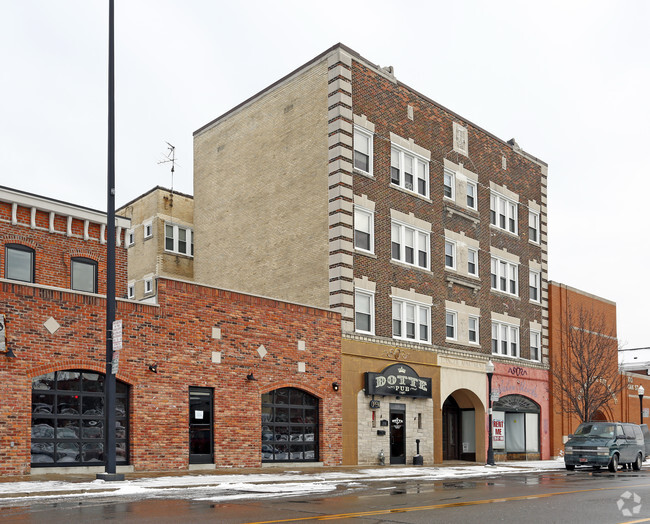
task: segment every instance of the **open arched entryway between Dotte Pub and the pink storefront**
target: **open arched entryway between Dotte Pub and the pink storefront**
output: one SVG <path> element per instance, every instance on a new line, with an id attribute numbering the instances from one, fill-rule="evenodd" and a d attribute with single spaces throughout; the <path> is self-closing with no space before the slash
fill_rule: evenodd
<path id="1" fill-rule="evenodd" d="M 442 405 L 443 460 L 476 461 L 476 410 L 473 394 L 458 390 Z"/>

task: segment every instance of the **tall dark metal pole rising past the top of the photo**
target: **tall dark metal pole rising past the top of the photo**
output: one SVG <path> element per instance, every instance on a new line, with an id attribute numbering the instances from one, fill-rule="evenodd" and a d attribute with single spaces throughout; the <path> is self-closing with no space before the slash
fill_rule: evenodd
<path id="1" fill-rule="evenodd" d="M 124 480 L 116 473 L 115 374 L 113 373 L 113 321 L 115 320 L 115 53 L 114 0 L 108 2 L 108 168 L 106 213 L 106 378 L 104 380 L 104 458 L 102 480 Z"/>

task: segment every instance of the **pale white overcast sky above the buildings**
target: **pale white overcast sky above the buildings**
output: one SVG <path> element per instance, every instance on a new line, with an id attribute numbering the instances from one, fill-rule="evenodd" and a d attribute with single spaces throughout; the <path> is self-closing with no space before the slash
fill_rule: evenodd
<path id="1" fill-rule="evenodd" d="M 116 191 L 337 42 L 549 164 L 549 278 L 650 346 L 650 2 L 116 0 Z M 106 210 L 108 0 L 0 0 L 0 185 Z M 634 197 L 634 198 L 633 198 Z"/>

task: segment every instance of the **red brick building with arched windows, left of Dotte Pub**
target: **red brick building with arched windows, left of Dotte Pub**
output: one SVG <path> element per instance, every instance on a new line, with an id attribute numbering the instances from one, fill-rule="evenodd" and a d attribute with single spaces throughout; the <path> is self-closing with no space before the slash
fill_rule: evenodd
<path id="1" fill-rule="evenodd" d="M 15 355 L 0 354 L 0 474 L 101 467 L 105 297 L 70 289 L 65 253 L 105 270 L 92 234 L 103 231 L 102 214 L 77 230 L 75 206 L 6 188 L 0 196 L 0 315 Z M 30 273 L 26 260 L 31 281 L 16 278 Z M 124 260 L 118 248 L 118 266 Z M 337 313 L 172 279 L 157 286 L 157 304 L 117 301 L 118 468 L 341 463 Z"/>

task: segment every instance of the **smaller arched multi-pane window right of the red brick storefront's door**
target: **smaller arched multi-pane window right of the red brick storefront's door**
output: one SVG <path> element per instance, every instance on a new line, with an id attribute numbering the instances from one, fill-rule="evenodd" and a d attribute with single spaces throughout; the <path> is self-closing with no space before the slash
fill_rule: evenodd
<path id="1" fill-rule="evenodd" d="M 316 462 L 318 398 L 296 388 L 262 395 L 262 462 Z"/>

